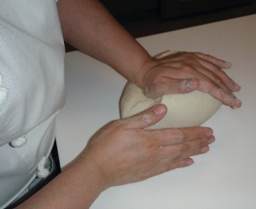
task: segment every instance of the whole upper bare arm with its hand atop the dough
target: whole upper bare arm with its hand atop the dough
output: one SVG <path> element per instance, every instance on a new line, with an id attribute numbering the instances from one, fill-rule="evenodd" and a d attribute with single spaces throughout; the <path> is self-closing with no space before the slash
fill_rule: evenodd
<path id="1" fill-rule="evenodd" d="M 116 69 L 149 97 L 201 90 L 225 105 L 240 107 L 240 90 L 221 68 L 229 62 L 202 53 L 178 53 L 155 60 L 97 0 L 59 0 L 67 43 Z"/>

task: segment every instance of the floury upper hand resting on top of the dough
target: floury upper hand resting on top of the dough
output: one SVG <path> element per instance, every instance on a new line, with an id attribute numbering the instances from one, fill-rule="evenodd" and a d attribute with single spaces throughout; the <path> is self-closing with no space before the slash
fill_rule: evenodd
<path id="1" fill-rule="evenodd" d="M 230 107 L 241 107 L 232 92 L 241 88 L 221 68 L 230 62 L 202 53 L 180 52 L 148 61 L 143 67 L 143 81 L 138 86 L 148 97 L 201 90 Z"/>

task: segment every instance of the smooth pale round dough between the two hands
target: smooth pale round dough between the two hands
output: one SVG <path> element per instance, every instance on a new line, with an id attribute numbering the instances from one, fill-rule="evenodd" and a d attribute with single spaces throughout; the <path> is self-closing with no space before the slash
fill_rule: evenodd
<path id="1" fill-rule="evenodd" d="M 172 54 L 164 52 L 157 57 Z M 164 119 L 150 126 L 150 129 L 192 127 L 201 125 L 218 111 L 221 102 L 207 93 L 198 90 L 186 94 L 165 95 L 154 100 L 144 96 L 143 90 L 128 82 L 120 98 L 120 116 L 122 119 L 142 112 L 156 104 L 165 104 L 167 113 Z"/>

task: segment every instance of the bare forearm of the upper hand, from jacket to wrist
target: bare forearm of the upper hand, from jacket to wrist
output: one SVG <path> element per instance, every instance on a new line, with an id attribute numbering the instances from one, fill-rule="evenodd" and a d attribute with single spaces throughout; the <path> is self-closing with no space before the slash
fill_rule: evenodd
<path id="1" fill-rule="evenodd" d="M 151 57 L 99 1 L 59 0 L 58 9 L 68 44 L 108 64 L 134 83 L 141 79 L 143 64 Z"/>

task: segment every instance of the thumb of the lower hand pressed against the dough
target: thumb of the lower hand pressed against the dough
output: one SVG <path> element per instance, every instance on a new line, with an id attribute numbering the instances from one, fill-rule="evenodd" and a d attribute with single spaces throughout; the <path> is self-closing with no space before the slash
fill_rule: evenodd
<path id="1" fill-rule="evenodd" d="M 166 113 L 167 107 L 163 104 L 158 104 L 125 119 L 125 122 L 129 128 L 147 128 L 156 124 L 158 121 L 160 121 L 160 119 L 163 119 Z"/>

